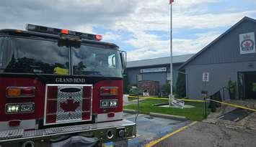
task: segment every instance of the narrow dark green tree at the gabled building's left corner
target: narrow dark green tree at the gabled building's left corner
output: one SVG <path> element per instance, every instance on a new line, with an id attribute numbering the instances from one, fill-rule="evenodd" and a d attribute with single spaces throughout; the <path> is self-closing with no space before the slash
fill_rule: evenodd
<path id="1" fill-rule="evenodd" d="M 176 94 L 180 98 L 184 98 L 186 96 L 186 77 L 185 74 L 179 73 L 177 82 L 176 82 Z"/>

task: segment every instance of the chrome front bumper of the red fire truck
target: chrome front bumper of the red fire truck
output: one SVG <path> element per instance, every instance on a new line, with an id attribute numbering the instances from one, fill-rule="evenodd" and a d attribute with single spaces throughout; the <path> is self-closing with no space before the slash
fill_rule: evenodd
<path id="1" fill-rule="evenodd" d="M 136 136 L 136 124 L 134 122 L 130 120 L 118 120 L 107 123 L 71 125 L 33 131 L 25 131 L 23 129 L 0 131 L 0 145 L 13 141 L 44 141 L 45 138 L 50 140 L 53 138 L 58 138 L 59 136 L 68 136 L 71 134 L 79 134 L 81 136 L 93 136 L 99 138 L 101 142 L 105 142 L 107 140 L 107 138 L 105 137 L 106 131 L 109 129 L 116 131 L 116 129 L 118 128 L 125 129 L 125 137 L 118 138 L 118 133 L 116 133 L 116 138 L 109 139 L 110 141 L 112 141 L 113 139 L 121 140 L 126 138 L 133 138 Z"/>

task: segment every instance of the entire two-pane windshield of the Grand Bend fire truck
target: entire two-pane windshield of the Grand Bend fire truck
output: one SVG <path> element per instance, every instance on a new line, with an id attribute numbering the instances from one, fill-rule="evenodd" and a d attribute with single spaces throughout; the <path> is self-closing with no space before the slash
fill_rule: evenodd
<path id="1" fill-rule="evenodd" d="M 0 69 L 14 73 L 122 76 L 118 50 L 92 44 L 59 47 L 57 41 L 21 37 L 0 37 Z"/>

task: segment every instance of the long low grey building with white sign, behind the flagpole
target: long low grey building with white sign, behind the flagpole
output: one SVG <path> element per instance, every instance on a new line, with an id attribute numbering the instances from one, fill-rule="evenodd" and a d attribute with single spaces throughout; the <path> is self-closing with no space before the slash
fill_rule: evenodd
<path id="1" fill-rule="evenodd" d="M 172 58 L 174 86 L 177 81 L 178 68 L 192 56 L 193 54 L 185 54 Z M 169 57 L 127 62 L 129 85 L 137 85 L 141 80 L 153 80 L 158 81 L 161 87 L 169 82 L 169 64 Z"/>

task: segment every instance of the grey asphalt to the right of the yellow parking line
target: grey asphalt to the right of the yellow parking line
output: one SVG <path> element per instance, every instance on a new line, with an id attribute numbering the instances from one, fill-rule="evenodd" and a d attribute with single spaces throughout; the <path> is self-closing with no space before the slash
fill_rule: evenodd
<path id="1" fill-rule="evenodd" d="M 234 129 L 211 123 L 198 122 L 176 133 L 154 147 L 255 147 L 256 131 L 250 129 Z"/>

